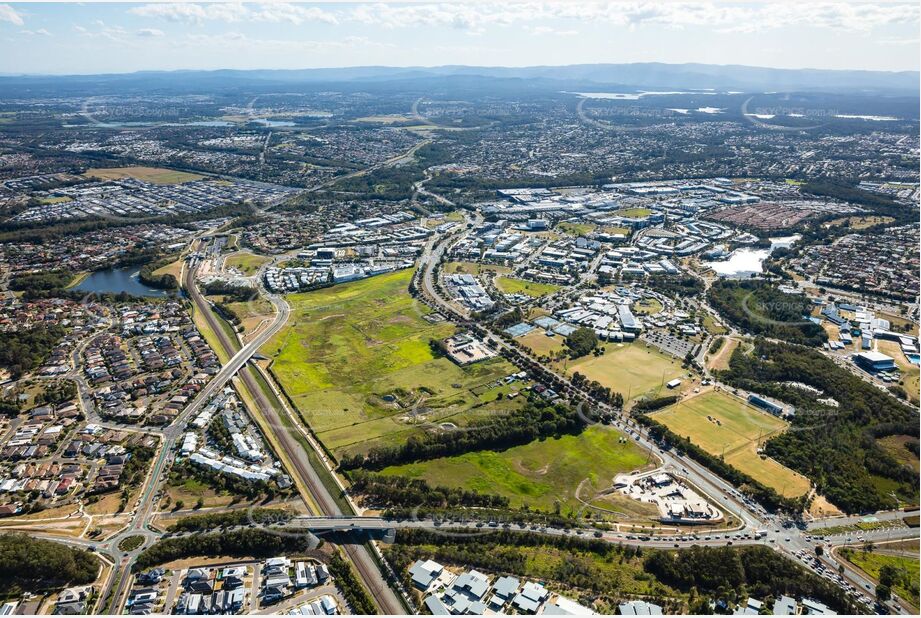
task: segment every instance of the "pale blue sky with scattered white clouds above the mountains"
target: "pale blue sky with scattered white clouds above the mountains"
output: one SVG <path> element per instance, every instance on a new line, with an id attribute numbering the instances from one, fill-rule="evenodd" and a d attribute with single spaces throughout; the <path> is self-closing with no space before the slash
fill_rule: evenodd
<path id="1" fill-rule="evenodd" d="M 2 3 L 0 73 L 703 62 L 919 69 L 915 2 Z"/>

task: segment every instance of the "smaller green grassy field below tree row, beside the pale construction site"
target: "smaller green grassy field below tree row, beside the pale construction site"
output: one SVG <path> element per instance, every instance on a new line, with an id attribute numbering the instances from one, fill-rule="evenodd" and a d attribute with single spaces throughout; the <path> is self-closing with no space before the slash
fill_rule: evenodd
<path id="1" fill-rule="evenodd" d="M 590 500 L 595 491 L 610 487 L 617 473 L 646 465 L 648 454 L 632 441 L 619 442 L 621 435 L 593 426 L 578 436 L 391 466 L 383 473 L 507 496 L 513 506 L 553 510 L 559 501 L 578 508 L 576 489 L 584 480 L 582 498 Z"/>

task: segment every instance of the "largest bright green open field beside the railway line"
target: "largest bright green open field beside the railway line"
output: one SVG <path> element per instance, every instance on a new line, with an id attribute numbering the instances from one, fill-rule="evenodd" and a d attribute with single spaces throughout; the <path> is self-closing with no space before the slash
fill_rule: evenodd
<path id="1" fill-rule="evenodd" d="M 337 455 L 402 443 L 431 423 L 518 407 L 515 390 L 495 386 L 516 369 L 502 359 L 461 368 L 435 358 L 430 339 L 454 333 L 431 323 L 429 309 L 407 292 L 402 270 L 292 294 L 291 317 L 262 352 L 311 428 Z"/>

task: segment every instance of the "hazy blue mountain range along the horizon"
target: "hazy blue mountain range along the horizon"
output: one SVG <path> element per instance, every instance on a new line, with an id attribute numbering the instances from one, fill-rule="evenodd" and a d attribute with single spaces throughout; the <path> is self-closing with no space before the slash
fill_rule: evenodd
<path id="1" fill-rule="evenodd" d="M 525 90 L 693 89 L 741 92 L 829 92 L 917 96 L 917 71 L 850 71 L 825 69 L 771 69 L 714 64 L 576 64 L 533 67 L 348 67 L 296 70 L 141 71 L 105 75 L 6 75 L 0 90 L 31 92 L 61 89 L 122 91 L 140 89 L 192 91 L 239 90 L 321 84 L 354 88 L 359 84 L 381 88 L 425 89 L 450 87 L 516 87 Z"/>

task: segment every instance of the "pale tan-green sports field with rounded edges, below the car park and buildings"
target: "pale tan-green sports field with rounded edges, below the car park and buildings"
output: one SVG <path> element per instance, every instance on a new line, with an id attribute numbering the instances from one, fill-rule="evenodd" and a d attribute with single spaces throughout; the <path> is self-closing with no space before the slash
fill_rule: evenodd
<path id="1" fill-rule="evenodd" d="M 578 371 L 631 400 L 671 393 L 665 383 L 684 374 L 678 359 L 642 343 L 605 343 L 603 346 L 602 356 L 588 355 L 567 361 L 566 372 L 572 375 Z"/>

